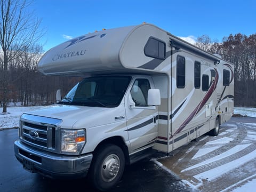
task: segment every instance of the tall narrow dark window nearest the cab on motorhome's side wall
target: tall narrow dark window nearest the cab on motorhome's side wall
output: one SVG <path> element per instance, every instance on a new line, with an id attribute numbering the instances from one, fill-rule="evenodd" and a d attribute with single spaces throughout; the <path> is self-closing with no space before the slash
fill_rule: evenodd
<path id="1" fill-rule="evenodd" d="M 186 67 L 185 57 L 177 56 L 177 71 L 176 71 L 176 84 L 178 88 L 185 87 L 186 80 Z"/>

